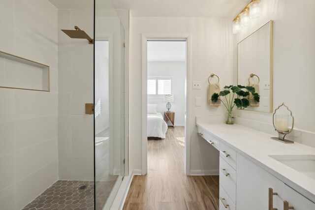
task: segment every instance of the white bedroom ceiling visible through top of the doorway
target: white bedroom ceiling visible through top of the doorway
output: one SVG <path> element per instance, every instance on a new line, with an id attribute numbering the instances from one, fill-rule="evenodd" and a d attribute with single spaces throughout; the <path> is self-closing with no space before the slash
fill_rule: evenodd
<path id="1" fill-rule="evenodd" d="M 148 41 L 148 61 L 186 60 L 186 41 Z"/>

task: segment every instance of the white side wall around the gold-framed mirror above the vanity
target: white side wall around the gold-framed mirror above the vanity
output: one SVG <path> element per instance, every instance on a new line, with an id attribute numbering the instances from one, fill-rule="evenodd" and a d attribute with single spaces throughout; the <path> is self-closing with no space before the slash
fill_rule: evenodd
<path id="1" fill-rule="evenodd" d="M 234 36 L 234 49 L 238 40 L 269 20 L 274 21 L 273 110 L 284 102 L 293 113 L 295 128 L 315 132 L 315 1 L 263 0 L 261 4 L 261 17 Z M 272 123 L 272 113 L 241 111 L 238 115 Z"/>

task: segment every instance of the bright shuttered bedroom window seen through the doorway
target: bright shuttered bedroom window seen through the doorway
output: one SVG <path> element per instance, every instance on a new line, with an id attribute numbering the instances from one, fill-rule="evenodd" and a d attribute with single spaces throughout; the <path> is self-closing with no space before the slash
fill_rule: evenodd
<path id="1" fill-rule="evenodd" d="M 149 78 L 148 95 L 172 94 L 172 78 Z"/>

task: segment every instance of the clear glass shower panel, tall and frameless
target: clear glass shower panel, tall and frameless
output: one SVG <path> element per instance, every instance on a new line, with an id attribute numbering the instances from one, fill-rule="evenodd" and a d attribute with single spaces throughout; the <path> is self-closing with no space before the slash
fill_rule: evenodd
<path id="1" fill-rule="evenodd" d="M 110 0 L 95 0 L 95 210 L 110 209 L 125 175 L 125 30 Z"/>

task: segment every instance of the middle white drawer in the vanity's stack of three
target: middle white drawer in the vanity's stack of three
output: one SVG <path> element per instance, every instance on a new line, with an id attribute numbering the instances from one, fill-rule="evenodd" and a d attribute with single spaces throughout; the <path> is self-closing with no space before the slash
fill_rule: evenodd
<path id="1" fill-rule="evenodd" d="M 236 203 L 236 171 L 220 157 L 220 184 Z"/>

